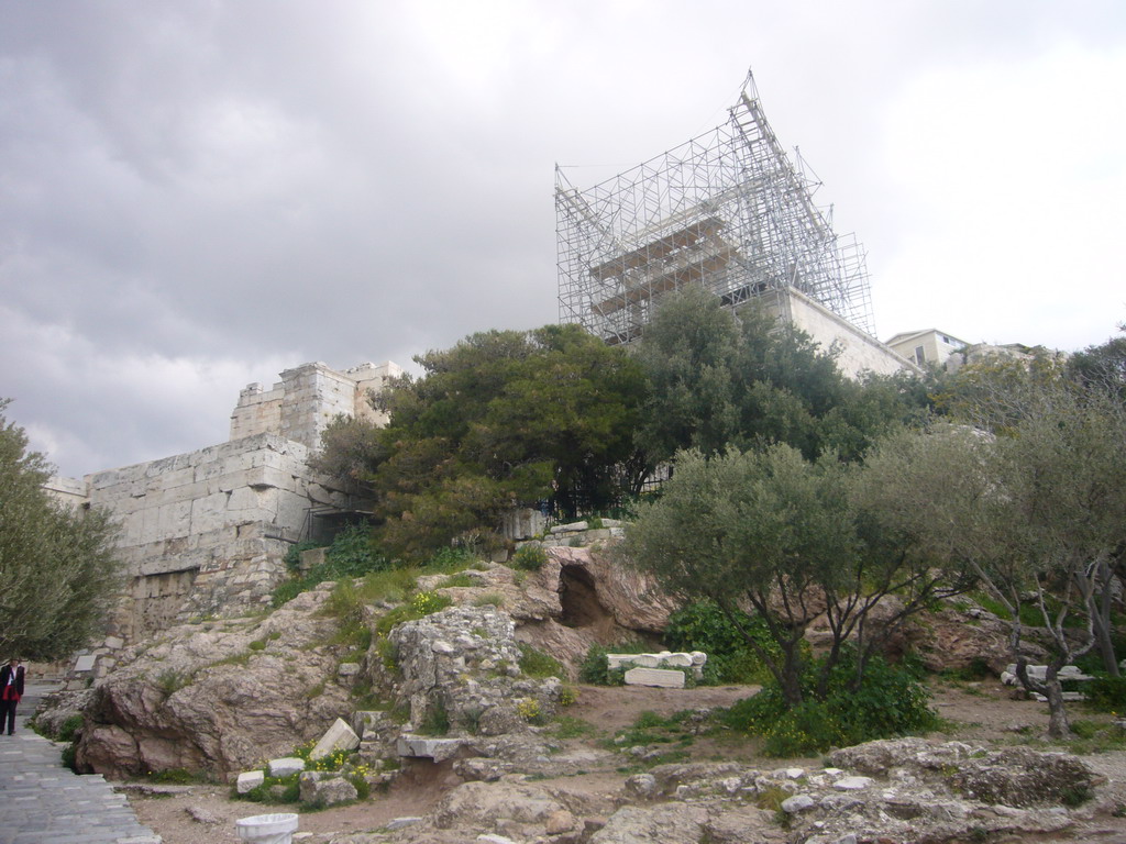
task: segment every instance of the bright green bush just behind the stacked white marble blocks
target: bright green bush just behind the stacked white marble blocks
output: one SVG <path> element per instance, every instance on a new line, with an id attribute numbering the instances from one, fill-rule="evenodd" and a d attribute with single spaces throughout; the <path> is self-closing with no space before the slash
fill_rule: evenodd
<path id="1" fill-rule="evenodd" d="M 705 683 L 768 682 L 770 673 L 750 648 L 745 636 L 751 636 L 767 653 L 780 658 L 778 645 L 761 618 L 745 612 L 738 613 L 736 618 L 739 627 L 712 601 L 690 603 L 669 617 L 664 645 L 670 650 L 703 650 L 707 654 Z"/>

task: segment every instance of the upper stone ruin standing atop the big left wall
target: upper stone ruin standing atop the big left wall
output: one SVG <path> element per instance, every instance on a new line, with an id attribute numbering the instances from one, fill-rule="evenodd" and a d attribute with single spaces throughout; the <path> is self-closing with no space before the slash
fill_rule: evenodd
<path id="1" fill-rule="evenodd" d="M 372 407 L 368 395 L 402 374 L 402 368 L 391 361 L 361 363 L 342 371 L 320 361 L 287 369 L 269 390 L 263 390 L 261 384 L 250 384 L 239 394 L 231 414 L 231 439 L 276 433 L 318 448 L 321 433 L 338 415 L 385 424 L 386 415 Z"/>

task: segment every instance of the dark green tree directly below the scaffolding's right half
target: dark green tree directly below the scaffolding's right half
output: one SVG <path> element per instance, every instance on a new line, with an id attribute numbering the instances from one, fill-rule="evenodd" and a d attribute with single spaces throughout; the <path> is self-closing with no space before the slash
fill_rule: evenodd
<path id="1" fill-rule="evenodd" d="M 637 360 L 652 384 L 637 441 L 656 460 L 771 442 L 851 460 L 924 399 L 906 376 L 850 380 L 808 335 L 754 304 L 736 316 L 698 287 L 664 297 Z"/>

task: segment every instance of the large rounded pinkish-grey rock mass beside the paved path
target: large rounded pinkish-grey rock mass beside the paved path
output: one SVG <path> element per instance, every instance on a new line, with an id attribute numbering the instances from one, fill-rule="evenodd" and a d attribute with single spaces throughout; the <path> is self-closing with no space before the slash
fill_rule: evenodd
<path id="1" fill-rule="evenodd" d="M 124 652 L 92 690 L 80 770 L 108 776 L 187 769 L 224 779 L 319 737 L 349 711 L 334 681 L 332 584 L 265 618 L 172 628 Z"/>

